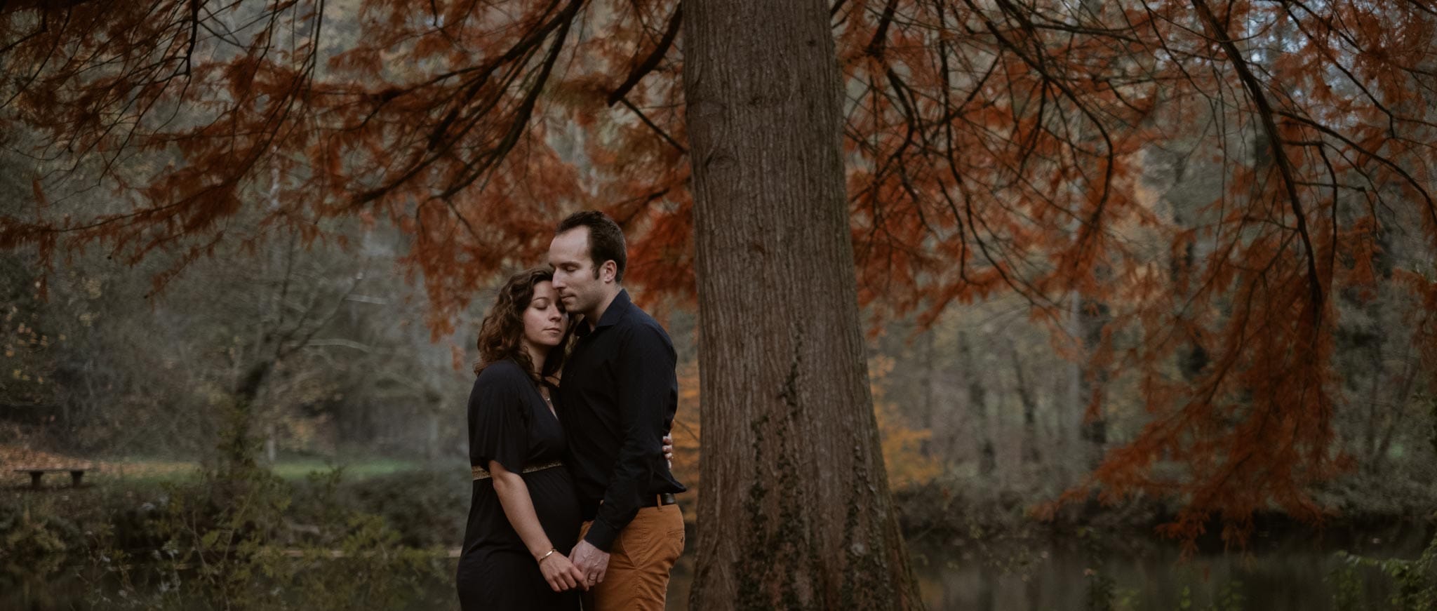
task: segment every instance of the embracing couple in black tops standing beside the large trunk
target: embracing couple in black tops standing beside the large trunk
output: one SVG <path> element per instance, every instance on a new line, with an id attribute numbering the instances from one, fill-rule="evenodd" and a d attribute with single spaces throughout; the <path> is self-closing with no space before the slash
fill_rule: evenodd
<path id="1" fill-rule="evenodd" d="M 464 611 L 662 610 L 684 548 L 664 437 L 674 345 L 624 290 L 624 233 L 581 211 L 509 279 L 479 334 Z"/>

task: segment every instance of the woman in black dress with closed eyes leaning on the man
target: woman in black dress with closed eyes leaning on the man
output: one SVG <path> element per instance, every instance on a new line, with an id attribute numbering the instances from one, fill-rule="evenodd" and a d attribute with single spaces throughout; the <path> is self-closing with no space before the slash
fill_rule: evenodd
<path id="1" fill-rule="evenodd" d="M 552 279 L 546 269 L 514 275 L 480 325 L 468 397 L 474 490 L 458 561 L 466 611 L 579 608 L 583 574 L 569 562 L 579 503 L 549 398 L 569 321 Z"/>

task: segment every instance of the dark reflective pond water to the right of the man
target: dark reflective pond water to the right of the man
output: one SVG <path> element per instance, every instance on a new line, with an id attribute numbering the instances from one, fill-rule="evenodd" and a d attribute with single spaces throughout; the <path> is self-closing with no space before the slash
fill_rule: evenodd
<path id="1" fill-rule="evenodd" d="M 1415 558 L 1423 541 L 1417 535 L 1368 545 L 1361 552 Z M 933 611 L 1082 611 L 1092 608 L 1088 604 L 1094 595 L 1111 601 L 1115 610 L 1321 611 L 1334 608 L 1336 592 L 1329 575 L 1345 566 L 1332 552 L 1313 549 L 1183 561 L 1165 543 L 1105 552 L 1101 558 L 1052 543 L 1003 551 L 911 545 L 910 551 L 924 604 Z M 1357 569 L 1357 576 L 1365 602 L 1359 608 L 1387 608 L 1388 579 L 1375 569 Z M 691 579 L 693 559 L 685 555 L 674 569 L 668 611 L 688 610 Z"/>

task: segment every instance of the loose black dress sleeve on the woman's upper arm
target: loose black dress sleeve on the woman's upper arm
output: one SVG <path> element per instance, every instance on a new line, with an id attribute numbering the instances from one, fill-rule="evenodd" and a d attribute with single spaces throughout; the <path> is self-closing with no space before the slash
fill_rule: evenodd
<path id="1" fill-rule="evenodd" d="M 510 472 L 525 469 L 529 430 L 523 417 L 523 384 L 502 365 L 484 369 L 468 394 L 468 463 L 489 469 L 496 460 Z"/>

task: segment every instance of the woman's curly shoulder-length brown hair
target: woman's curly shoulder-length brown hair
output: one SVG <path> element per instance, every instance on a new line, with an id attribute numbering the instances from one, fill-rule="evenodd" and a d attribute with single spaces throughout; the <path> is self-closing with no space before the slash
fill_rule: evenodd
<path id="1" fill-rule="evenodd" d="M 569 342 L 568 332 L 565 332 L 563 341 L 549 351 L 543 371 L 537 374 L 533 361 L 529 359 L 529 352 L 525 351 L 525 309 L 529 309 L 535 286 L 540 282 L 553 282 L 553 272 L 547 267 L 526 269 L 509 276 L 509 282 L 499 289 L 494 305 L 489 308 L 484 322 L 479 325 L 479 362 L 474 364 L 474 375 L 507 358 L 523 367 L 535 378 L 535 382 L 539 382 L 558 372 L 559 367 L 563 365 L 565 345 Z"/>

